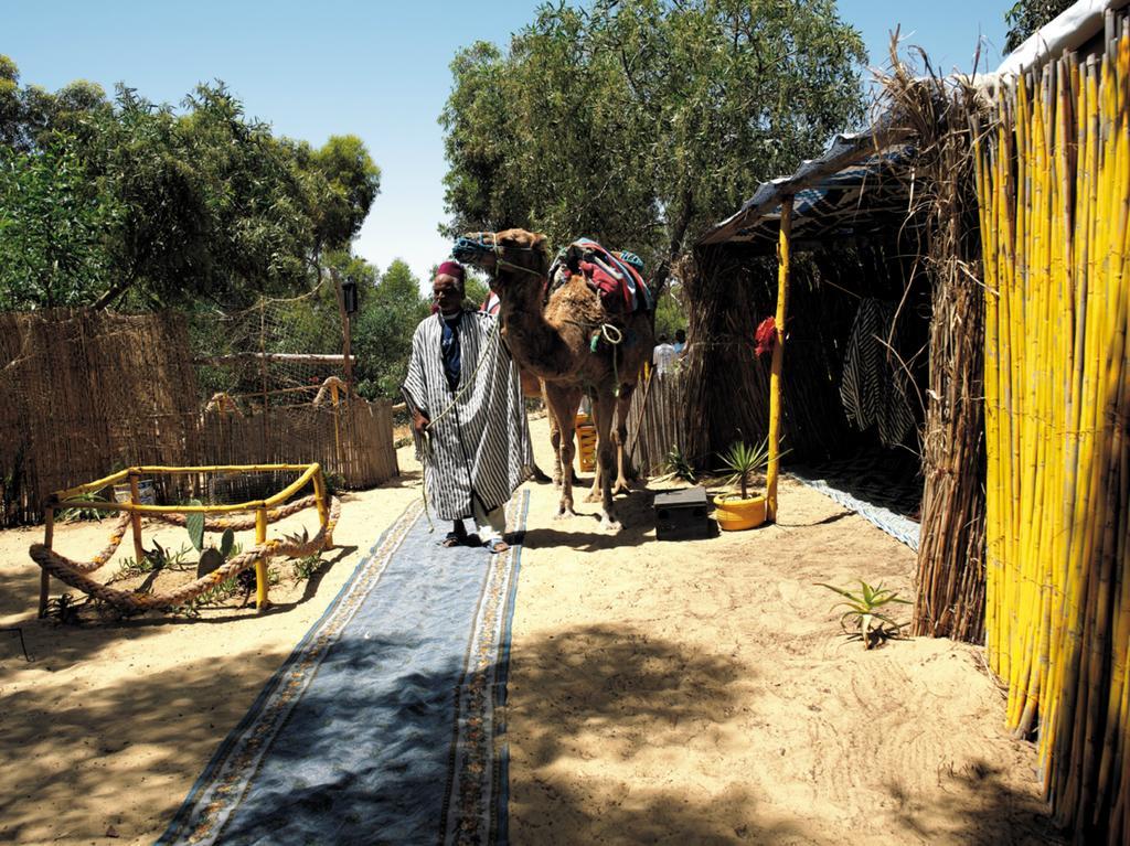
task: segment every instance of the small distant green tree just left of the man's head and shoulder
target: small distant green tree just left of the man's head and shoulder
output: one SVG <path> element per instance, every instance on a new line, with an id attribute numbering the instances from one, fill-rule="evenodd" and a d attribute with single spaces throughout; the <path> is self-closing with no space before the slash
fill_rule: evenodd
<path id="1" fill-rule="evenodd" d="M 364 262 L 355 267 L 360 293 L 353 330 L 357 390 L 367 399 L 397 398 L 408 369 L 412 333 L 427 316 L 431 302 L 420 294 L 419 279 L 400 259 L 389 265 L 380 281 Z"/>

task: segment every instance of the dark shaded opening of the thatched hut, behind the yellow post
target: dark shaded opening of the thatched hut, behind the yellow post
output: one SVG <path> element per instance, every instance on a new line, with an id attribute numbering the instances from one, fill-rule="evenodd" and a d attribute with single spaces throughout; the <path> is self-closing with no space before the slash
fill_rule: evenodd
<path id="1" fill-rule="evenodd" d="M 916 548 L 931 300 L 916 261 L 923 232 L 907 220 L 912 156 L 878 130 L 840 138 L 703 238 L 688 286 L 690 390 L 699 394 L 688 407 L 706 409 L 706 421 L 688 439 L 692 454 L 709 455 L 767 430 L 770 356 L 757 355 L 755 334 L 776 311 L 788 203 L 784 462 Z M 712 415 L 723 385 L 731 402 Z"/>

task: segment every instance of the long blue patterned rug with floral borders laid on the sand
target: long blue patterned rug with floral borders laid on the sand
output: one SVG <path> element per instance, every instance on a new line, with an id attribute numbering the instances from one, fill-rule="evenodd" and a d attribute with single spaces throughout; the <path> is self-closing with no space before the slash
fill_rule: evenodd
<path id="1" fill-rule="evenodd" d="M 511 550 L 381 537 L 224 741 L 158 844 L 506 843 Z"/>

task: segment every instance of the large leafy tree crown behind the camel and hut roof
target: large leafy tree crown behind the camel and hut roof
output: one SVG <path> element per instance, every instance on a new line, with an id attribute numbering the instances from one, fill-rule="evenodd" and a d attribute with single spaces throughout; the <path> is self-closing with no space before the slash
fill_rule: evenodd
<path id="1" fill-rule="evenodd" d="M 449 234 L 590 235 L 654 268 L 862 115 L 833 0 L 545 5 L 451 64 Z"/>

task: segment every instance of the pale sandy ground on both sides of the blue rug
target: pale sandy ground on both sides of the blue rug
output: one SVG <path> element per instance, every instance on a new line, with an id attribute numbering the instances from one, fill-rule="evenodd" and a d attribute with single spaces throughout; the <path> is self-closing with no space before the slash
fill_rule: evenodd
<path id="1" fill-rule="evenodd" d="M 544 420 L 534 433 L 548 466 Z M 311 579 L 279 564 L 262 616 L 233 600 L 191 619 L 38 621 L 26 549 L 41 531 L 0 533 L 0 627 L 19 626 L 35 659 L 0 633 L 0 841 L 151 843 L 419 495 L 409 452 L 395 483 L 347 498 Z M 909 593 L 905 547 L 789 481 L 777 525 L 683 542 L 654 539 L 646 491 L 621 500 L 615 538 L 591 515 L 554 521 L 553 489 L 532 491 L 507 709 L 514 843 L 1058 843 L 980 651 L 864 652 L 814 584 Z M 56 548 L 88 555 L 104 534 L 61 526 Z"/>

